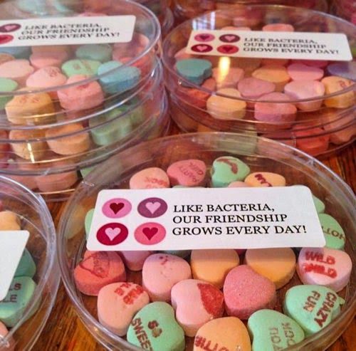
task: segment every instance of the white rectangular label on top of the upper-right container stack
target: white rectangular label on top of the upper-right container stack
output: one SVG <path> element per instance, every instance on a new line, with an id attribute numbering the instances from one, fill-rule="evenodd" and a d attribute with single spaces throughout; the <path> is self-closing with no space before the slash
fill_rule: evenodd
<path id="1" fill-rule="evenodd" d="M 343 33 L 192 31 L 187 53 L 203 56 L 350 61 Z"/>

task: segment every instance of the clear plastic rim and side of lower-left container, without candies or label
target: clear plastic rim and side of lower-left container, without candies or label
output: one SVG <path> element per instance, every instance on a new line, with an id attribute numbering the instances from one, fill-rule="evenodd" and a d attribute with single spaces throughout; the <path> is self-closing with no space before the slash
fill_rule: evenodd
<path id="1" fill-rule="evenodd" d="M 0 200 L 4 210 L 13 211 L 21 219 L 21 229 L 30 237 L 27 250 L 36 263 L 33 281 L 37 284 L 23 315 L 9 333 L 0 340 L 0 350 L 31 350 L 38 339 L 56 300 L 60 281 L 56 260 L 56 230 L 46 203 L 21 184 L 0 176 Z M 36 310 L 33 312 L 33 308 Z M 31 317 L 30 317 L 31 316 Z"/>

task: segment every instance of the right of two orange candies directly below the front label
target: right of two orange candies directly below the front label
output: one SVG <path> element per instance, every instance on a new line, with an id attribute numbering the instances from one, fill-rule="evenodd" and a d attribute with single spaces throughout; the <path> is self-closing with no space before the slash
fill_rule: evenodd
<path id="1" fill-rule="evenodd" d="M 286 285 L 295 272 L 295 254 L 291 248 L 248 249 L 245 263 L 253 271 L 273 281 L 276 289 Z"/>

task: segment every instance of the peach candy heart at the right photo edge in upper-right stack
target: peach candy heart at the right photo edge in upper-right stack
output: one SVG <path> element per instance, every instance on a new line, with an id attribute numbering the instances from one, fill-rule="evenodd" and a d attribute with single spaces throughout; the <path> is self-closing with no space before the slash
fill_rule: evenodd
<path id="1" fill-rule="evenodd" d="M 349 79 L 337 77 L 336 75 L 323 78 L 321 83 L 325 85 L 325 94 L 334 94 L 355 84 Z M 355 95 L 352 90 L 325 99 L 325 106 L 328 108 L 350 108 L 353 105 L 355 105 Z"/>

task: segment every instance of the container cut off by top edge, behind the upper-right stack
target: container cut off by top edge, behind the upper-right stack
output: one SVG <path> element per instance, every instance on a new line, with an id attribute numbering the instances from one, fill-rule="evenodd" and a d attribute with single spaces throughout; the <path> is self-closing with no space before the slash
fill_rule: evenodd
<path id="1" fill-rule="evenodd" d="M 174 18 L 182 22 L 193 19 L 200 14 L 215 10 L 228 10 L 239 8 L 240 5 L 249 4 L 276 4 L 285 6 L 298 6 L 316 11 L 328 11 L 328 1 L 326 0 L 175 0 Z"/>

